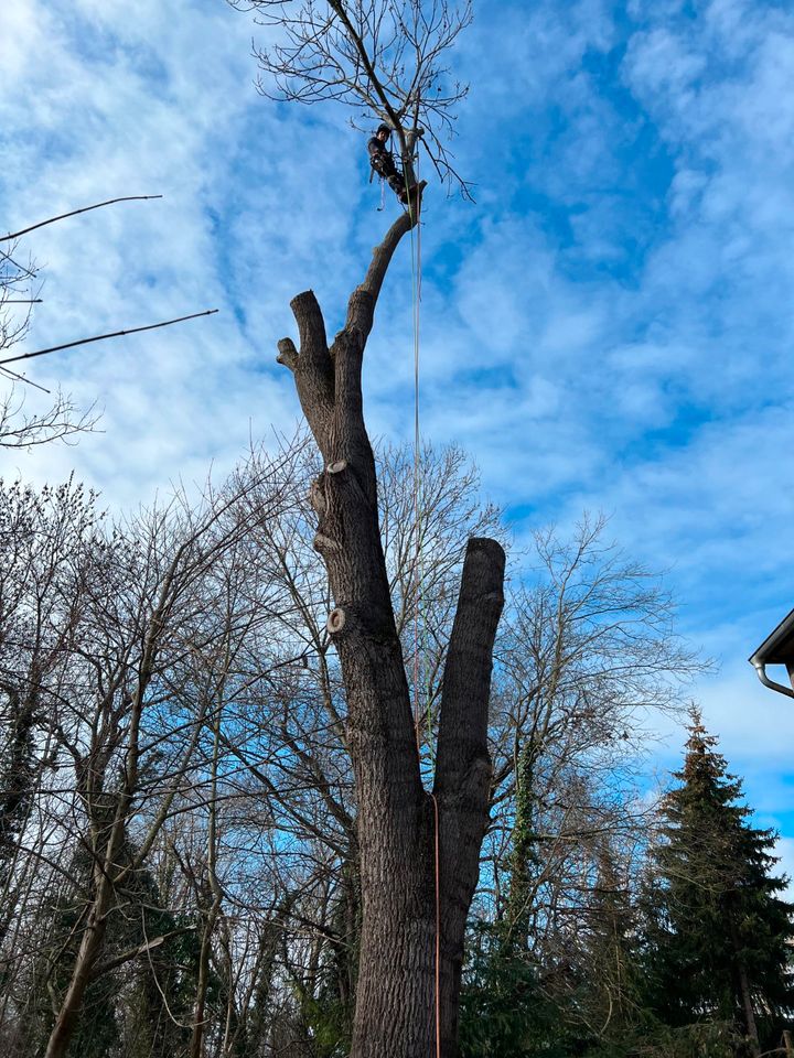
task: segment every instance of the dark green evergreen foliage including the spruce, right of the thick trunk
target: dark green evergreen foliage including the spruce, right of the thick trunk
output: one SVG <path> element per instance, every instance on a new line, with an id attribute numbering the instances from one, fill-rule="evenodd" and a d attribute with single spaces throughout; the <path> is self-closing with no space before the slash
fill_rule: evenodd
<path id="1" fill-rule="evenodd" d="M 715 743 L 695 715 L 640 903 L 605 840 L 576 933 L 536 944 L 535 961 L 522 801 L 506 914 L 470 933 L 463 1058 L 753 1058 L 777 1045 L 794 1007 L 793 908 L 772 874 L 775 835 L 751 825 Z"/>

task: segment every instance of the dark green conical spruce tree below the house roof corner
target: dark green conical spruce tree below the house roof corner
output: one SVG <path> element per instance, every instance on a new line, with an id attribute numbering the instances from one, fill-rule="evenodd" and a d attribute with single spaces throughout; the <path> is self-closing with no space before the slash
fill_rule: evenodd
<path id="1" fill-rule="evenodd" d="M 679 784 L 662 802 L 647 931 L 651 1005 L 672 1026 L 723 1022 L 751 1054 L 794 1008 L 794 906 L 771 872 L 775 834 L 751 825 L 741 781 L 693 710 Z"/>

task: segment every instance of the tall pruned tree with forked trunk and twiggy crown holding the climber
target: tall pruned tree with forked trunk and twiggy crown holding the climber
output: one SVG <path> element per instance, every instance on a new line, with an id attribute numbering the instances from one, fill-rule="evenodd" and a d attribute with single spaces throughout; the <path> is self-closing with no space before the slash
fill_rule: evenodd
<path id="1" fill-rule="evenodd" d="M 458 10 L 447 0 L 254 0 L 238 7 L 277 28 L 279 39 L 259 52 L 266 93 L 275 83 L 280 98 L 335 100 L 387 121 L 409 184 L 423 136 L 441 175 L 460 181 L 441 136 L 465 93 L 444 62 L 470 19 L 468 4 Z M 293 373 L 324 465 L 312 488 L 314 547 L 335 602 L 328 629 L 346 692 L 362 887 L 353 1058 L 427 1055 L 434 1043 L 448 1058 L 457 1052 L 463 932 L 487 820 L 487 706 L 504 552 L 492 539 L 469 542 L 428 795 L 363 415 L 364 349 L 391 258 L 418 223 L 421 188 L 375 248 L 333 342 L 314 294 L 305 291 L 291 302 L 299 347 L 290 338 L 279 343 L 279 360 Z"/>

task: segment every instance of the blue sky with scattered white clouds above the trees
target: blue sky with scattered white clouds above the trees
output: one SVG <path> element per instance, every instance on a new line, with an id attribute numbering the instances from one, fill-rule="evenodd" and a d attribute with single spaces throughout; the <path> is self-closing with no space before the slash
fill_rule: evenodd
<path id="1" fill-rule="evenodd" d="M 386 216 L 332 106 L 260 98 L 250 19 L 224 0 L 2 0 L 3 225 L 127 194 L 36 233 L 31 344 L 205 307 L 211 320 L 40 360 L 105 409 L 73 469 L 111 507 L 291 432 L 275 343 L 312 287 L 341 323 Z M 611 515 L 665 570 L 720 662 L 696 689 L 794 870 L 794 709 L 751 650 L 794 605 L 794 13 L 763 0 L 475 0 L 453 150 L 476 204 L 433 187 L 422 231 L 422 430 L 478 460 L 521 540 Z M 387 209 L 395 209 L 387 201 Z M 366 364 L 374 434 L 412 436 L 407 247 Z M 677 755 L 678 735 L 669 760 Z"/>

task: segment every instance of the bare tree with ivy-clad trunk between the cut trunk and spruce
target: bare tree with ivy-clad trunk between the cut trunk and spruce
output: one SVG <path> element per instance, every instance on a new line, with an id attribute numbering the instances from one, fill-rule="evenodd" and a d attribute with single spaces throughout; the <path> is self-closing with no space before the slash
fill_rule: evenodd
<path id="1" fill-rule="evenodd" d="M 530 914 L 536 926 L 541 905 L 559 906 L 568 866 L 579 885 L 576 848 L 642 830 L 632 776 L 647 721 L 680 713 L 682 684 L 704 667 L 658 577 L 604 533 L 586 517 L 570 540 L 536 535 L 539 576 L 514 591 L 500 641 L 494 798 L 509 832 L 508 914 L 525 933 Z"/>

